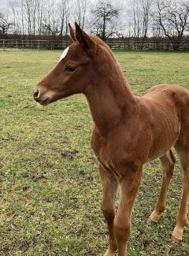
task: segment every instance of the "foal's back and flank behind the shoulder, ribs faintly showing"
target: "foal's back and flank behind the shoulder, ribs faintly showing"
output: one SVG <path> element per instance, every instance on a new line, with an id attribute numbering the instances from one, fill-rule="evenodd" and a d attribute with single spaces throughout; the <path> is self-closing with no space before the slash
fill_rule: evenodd
<path id="1" fill-rule="evenodd" d="M 189 143 L 189 90 L 162 84 L 150 88 L 141 100 L 148 109 L 151 130 L 148 160 L 161 157 L 183 135 Z"/>

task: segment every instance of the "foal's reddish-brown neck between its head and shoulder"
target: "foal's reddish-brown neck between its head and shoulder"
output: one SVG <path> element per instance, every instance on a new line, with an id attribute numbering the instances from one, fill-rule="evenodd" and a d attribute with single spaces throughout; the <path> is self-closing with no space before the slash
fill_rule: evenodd
<path id="1" fill-rule="evenodd" d="M 110 54 L 108 57 L 98 68 L 98 76 L 85 92 L 95 126 L 102 136 L 106 136 L 123 118 L 127 118 L 127 112 L 135 104 L 135 95 L 120 66 Z"/>

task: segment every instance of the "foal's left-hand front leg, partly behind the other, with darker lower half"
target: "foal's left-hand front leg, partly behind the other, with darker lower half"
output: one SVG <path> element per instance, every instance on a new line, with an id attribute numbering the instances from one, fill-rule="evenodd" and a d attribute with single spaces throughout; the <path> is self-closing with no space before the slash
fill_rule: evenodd
<path id="1" fill-rule="evenodd" d="M 117 250 L 117 241 L 113 232 L 113 221 L 115 217 L 114 202 L 117 195 L 117 180 L 109 170 L 99 165 L 102 181 L 102 212 L 106 218 L 109 228 L 109 249 L 104 256 L 114 256 Z"/>

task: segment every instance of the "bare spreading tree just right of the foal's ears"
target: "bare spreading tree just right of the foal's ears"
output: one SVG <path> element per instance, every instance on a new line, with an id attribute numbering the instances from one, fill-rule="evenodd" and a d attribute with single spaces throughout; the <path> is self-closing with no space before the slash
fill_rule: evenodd
<path id="1" fill-rule="evenodd" d="M 98 0 L 95 7 L 91 10 L 93 32 L 103 41 L 117 34 L 117 18 L 119 9 L 113 6 L 112 2 Z"/>

